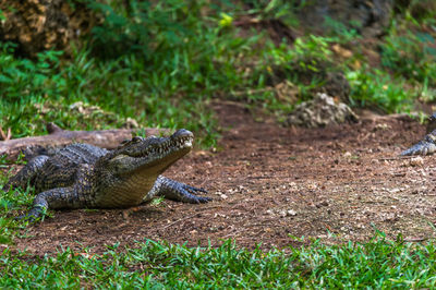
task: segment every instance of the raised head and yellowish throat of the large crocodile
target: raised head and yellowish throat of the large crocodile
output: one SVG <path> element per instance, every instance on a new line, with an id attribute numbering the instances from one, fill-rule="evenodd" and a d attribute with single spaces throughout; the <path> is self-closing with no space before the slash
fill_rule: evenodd
<path id="1" fill-rule="evenodd" d="M 110 207 L 141 203 L 157 177 L 192 149 L 193 140 L 190 131 L 181 129 L 169 137 L 133 137 L 122 143 L 95 165 L 96 182 L 104 192 L 99 197 L 108 198 Z"/>

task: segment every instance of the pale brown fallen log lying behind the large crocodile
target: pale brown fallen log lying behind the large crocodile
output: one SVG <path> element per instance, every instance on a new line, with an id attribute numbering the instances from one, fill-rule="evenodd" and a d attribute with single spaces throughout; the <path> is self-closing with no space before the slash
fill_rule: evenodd
<path id="1" fill-rule="evenodd" d="M 143 129 L 147 136 L 169 134 L 169 129 L 146 128 Z M 57 148 L 72 143 L 87 143 L 98 147 L 113 149 L 122 141 L 131 138 L 133 132 L 138 129 L 114 129 L 99 131 L 69 131 L 62 130 L 53 123 L 47 124 L 48 135 L 13 138 L 0 141 L 0 156 L 8 155 L 10 158 L 16 157 L 27 148 Z"/>

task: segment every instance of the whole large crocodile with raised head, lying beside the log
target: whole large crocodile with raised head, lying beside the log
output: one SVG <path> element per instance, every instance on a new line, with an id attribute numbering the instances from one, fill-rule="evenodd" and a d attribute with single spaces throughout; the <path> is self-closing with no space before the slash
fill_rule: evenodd
<path id="1" fill-rule="evenodd" d="M 37 193 L 33 208 L 21 218 L 36 220 L 47 209 L 128 208 L 164 196 L 184 203 L 207 203 L 207 191 L 161 176 L 192 149 L 194 135 L 181 129 L 169 137 L 135 136 L 107 150 L 72 144 L 52 156 L 38 155 L 3 186 Z"/>

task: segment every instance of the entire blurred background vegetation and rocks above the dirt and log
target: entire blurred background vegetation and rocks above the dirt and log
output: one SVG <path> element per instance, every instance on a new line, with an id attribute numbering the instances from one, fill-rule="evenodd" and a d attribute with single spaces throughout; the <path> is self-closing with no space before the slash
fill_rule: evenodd
<path id="1" fill-rule="evenodd" d="M 324 2 L 3 1 L 0 124 L 22 137 L 49 121 L 92 130 L 133 118 L 213 146 L 211 105 L 222 99 L 278 122 L 316 92 L 353 108 L 431 112 L 434 1 Z"/>

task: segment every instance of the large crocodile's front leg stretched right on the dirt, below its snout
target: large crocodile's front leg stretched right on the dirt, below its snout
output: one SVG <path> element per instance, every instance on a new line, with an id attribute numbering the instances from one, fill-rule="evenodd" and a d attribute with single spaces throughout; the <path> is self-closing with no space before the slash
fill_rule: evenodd
<path id="1" fill-rule="evenodd" d="M 190 203 L 190 204 L 203 204 L 210 202 L 210 197 L 196 196 L 198 192 L 207 193 L 203 189 L 197 189 L 185 183 L 159 176 L 155 182 L 155 185 L 147 193 L 144 202 L 148 202 L 156 196 L 164 196 L 168 200 Z"/>

